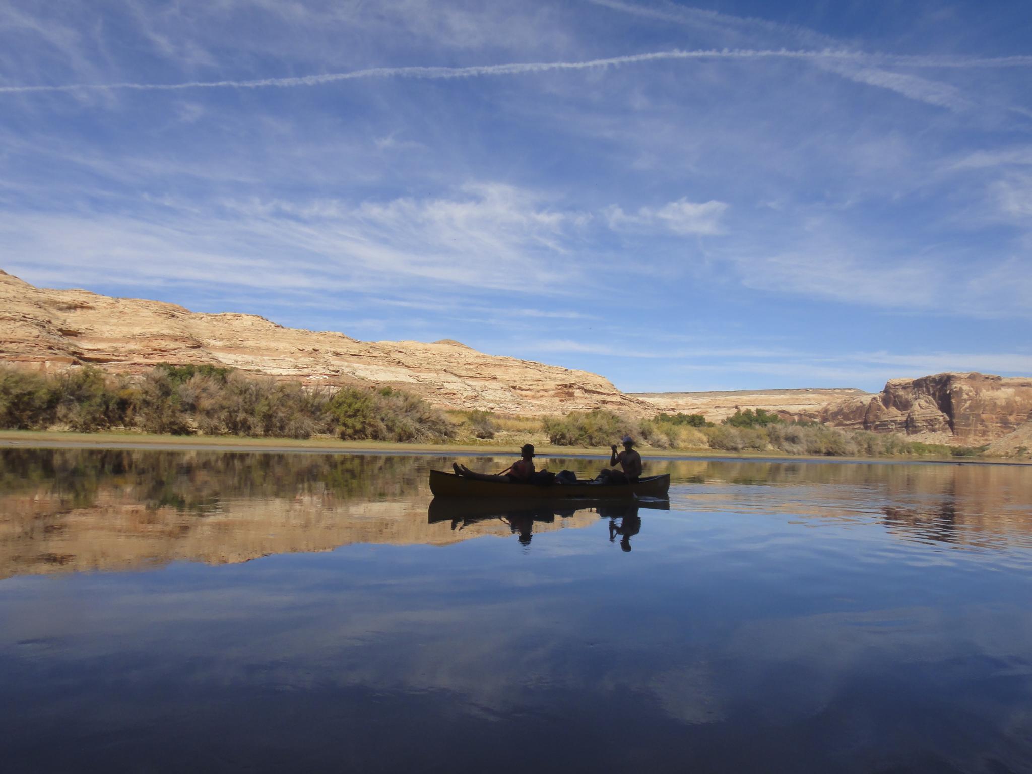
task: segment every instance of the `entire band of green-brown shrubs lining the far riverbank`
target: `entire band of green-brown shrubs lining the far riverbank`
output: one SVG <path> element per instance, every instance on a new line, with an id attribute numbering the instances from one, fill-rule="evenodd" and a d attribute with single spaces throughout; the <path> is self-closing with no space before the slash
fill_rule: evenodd
<path id="1" fill-rule="evenodd" d="M 907 441 L 895 433 L 787 422 L 746 409 L 720 424 L 701 414 L 637 420 L 606 411 L 565 417 L 506 417 L 444 412 L 390 387 L 305 389 L 212 365 L 161 364 L 138 380 L 87 366 L 59 375 L 0 368 L 0 428 L 78 432 L 135 430 L 176 436 L 243 436 L 399 443 L 510 443 L 547 439 L 554 446 L 608 447 L 631 434 L 662 450 L 779 451 L 842 456 L 978 456 L 986 447 Z"/>

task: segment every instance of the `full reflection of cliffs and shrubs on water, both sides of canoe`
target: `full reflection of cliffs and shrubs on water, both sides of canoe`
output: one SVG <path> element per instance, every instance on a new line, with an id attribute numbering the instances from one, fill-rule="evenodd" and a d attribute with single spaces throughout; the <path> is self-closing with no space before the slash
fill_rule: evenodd
<path id="1" fill-rule="evenodd" d="M 0 578 L 225 563 L 350 543 L 445 545 L 512 537 L 504 519 L 427 519 L 427 471 L 452 458 L 76 450 L 0 450 Z M 467 460 L 497 470 L 498 460 Z M 598 459 L 547 459 L 598 470 Z M 1032 546 L 1032 469 L 646 460 L 670 473 L 672 507 L 882 523 L 960 546 Z M 580 511 L 534 519 L 533 534 L 595 523 Z M 533 517 L 531 517 L 533 518 Z M 511 521 L 511 519 L 510 519 Z M 522 524 L 522 531 L 527 531 Z M 531 533 L 527 533 L 531 534 Z M 622 536 L 621 536 L 622 539 Z"/>

